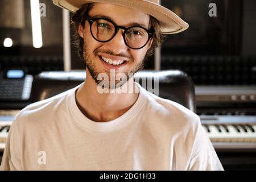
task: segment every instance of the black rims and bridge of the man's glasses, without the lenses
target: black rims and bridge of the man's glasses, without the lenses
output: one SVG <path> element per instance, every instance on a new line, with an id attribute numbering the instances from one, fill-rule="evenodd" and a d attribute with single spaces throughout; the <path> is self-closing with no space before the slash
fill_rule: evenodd
<path id="1" fill-rule="evenodd" d="M 97 40 L 98 42 L 101 42 L 101 43 L 109 42 L 110 40 L 112 40 L 112 39 L 115 37 L 115 35 L 117 35 L 119 29 L 122 29 L 122 30 L 125 30 L 125 31 L 123 32 L 123 40 L 124 40 L 126 46 L 128 46 L 128 47 L 131 48 L 131 49 L 138 50 L 138 49 L 142 49 L 143 47 L 145 47 L 145 46 L 147 45 L 147 43 L 150 41 L 150 39 L 152 38 L 152 36 L 154 36 L 154 31 L 153 31 L 153 30 L 147 30 L 147 28 L 144 28 L 144 27 L 141 27 L 141 26 L 131 26 L 131 27 L 126 28 L 126 27 L 123 27 L 123 26 L 118 26 L 118 25 L 115 24 L 112 20 L 107 19 L 107 18 L 89 18 L 88 16 L 84 16 L 84 17 L 85 17 L 84 19 L 87 20 L 87 21 L 89 22 L 89 24 L 90 24 L 90 34 L 93 36 L 93 38 L 94 38 L 95 40 Z M 99 19 L 106 20 L 106 21 L 112 23 L 112 24 L 114 25 L 114 27 L 115 27 L 115 32 L 114 32 L 112 38 L 110 38 L 109 40 L 101 41 L 101 40 L 98 40 L 97 38 L 95 38 L 94 35 L 93 35 L 93 32 L 92 32 L 92 25 L 93 25 L 93 23 L 94 23 L 96 20 L 99 20 Z M 83 26 L 85 26 L 84 20 L 82 21 L 82 23 L 83 23 Z M 146 32 L 147 32 L 147 34 L 148 34 L 148 40 L 147 40 L 147 42 L 144 44 L 144 46 L 142 46 L 142 47 L 140 47 L 140 48 L 133 48 L 133 47 L 130 47 L 130 46 L 127 44 L 126 40 L 125 40 L 125 34 L 126 34 L 127 30 L 129 30 L 130 28 L 134 28 L 134 27 L 143 28 L 144 30 L 146 30 Z"/>

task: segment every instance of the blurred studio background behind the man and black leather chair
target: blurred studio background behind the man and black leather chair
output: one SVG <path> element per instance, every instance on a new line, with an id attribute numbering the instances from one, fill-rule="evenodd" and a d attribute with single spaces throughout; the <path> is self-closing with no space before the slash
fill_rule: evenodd
<path id="1" fill-rule="evenodd" d="M 187 73 L 195 84 L 196 113 L 224 168 L 256 169 L 256 1 L 161 2 L 189 23 L 189 29 L 166 36 L 144 69 Z M 209 16 L 210 3 L 216 4 L 217 16 Z M 34 12 L 38 7 L 40 15 Z M 1 115 L 8 120 L 30 104 L 36 75 L 81 70 L 85 65 L 72 46 L 72 14 L 52 1 L 40 0 L 36 5 L 30 0 L 1 0 L 0 12 L 1 139 L 1 132 L 5 138 L 9 131 L 1 129 Z M 31 18 L 36 15 L 38 19 Z M 20 95 L 26 84 L 27 91 Z M 236 132 L 225 133 L 226 126 Z M 229 134 L 224 142 L 222 137 Z"/>

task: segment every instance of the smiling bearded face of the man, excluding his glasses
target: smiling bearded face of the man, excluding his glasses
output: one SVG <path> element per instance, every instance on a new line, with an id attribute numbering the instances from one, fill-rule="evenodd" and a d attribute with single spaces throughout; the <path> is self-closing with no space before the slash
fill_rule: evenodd
<path id="1" fill-rule="evenodd" d="M 145 13 L 117 5 L 94 3 L 92 10 L 89 12 L 89 17 L 102 18 L 103 16 L 109 16 L 118 26 L 131 27 L 134 23 L 137 23 L 142 24 L 147 30 L 150 29 L 150 16 Z M 112 40 L 101 43 L 91 35 L 88 21 L 85 22 L 84 32 L 82 28 L 82 26 L 79 27 L 79 35 L 84 37 L 86 67 L 97 84 L 101 81 L 97 79 L 100 73 L 106 73 L 110 78 L 110 69 L 115 71 L 115 75 L 124 73 L 128 77 L 129 73 L 136 73 L 143 68 L 144 57 L 152 44 L 152 40 L 141 49 L 131 49 L 126 46 L 123 40 L 124 30 L 122 29 Z M 117 64 L 117 60 L 119 60 L 119 65 L 113 65 L 111 62 L 107 63 L 108 61 L 104 61 L 104 59 L 113 60 Z M 122 63 L 122 61 L 124 62 Z M 115 81 L 115 85 L 118 82 Z"/>

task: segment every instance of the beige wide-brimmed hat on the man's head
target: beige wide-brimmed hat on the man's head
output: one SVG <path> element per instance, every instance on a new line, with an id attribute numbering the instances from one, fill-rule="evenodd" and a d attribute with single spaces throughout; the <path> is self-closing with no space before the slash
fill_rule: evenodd
<path id="1" fill-rule="evenodd" d="M 184 22 L 174 12 L 159 5 L 159 0 L 53 0 L 55 5 L 72 13 L 79 10 L 82 5 L 93 2 L 111 3 L 143 11 L 159 20 L 163 34 L 177 34 L 189 27 L 188 23 Z"/>

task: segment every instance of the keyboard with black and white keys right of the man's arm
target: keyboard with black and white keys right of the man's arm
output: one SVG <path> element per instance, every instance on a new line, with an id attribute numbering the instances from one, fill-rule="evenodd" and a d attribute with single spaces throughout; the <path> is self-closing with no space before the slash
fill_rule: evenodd
<path id="1" fill-rule="evenodd" d="M 256 117 L 200 115 L 201 123 L 216 149 L 256 149 Z"/>

